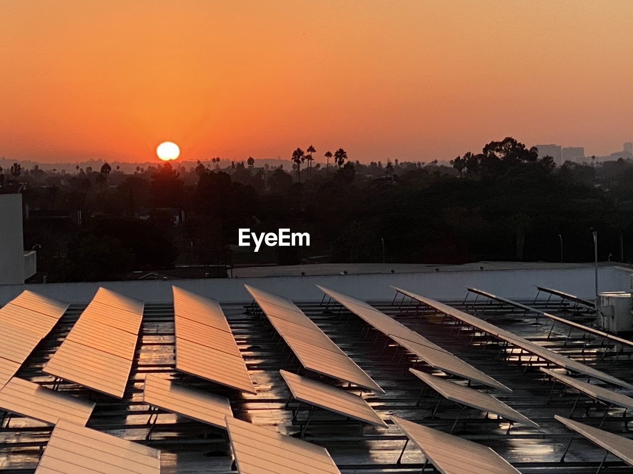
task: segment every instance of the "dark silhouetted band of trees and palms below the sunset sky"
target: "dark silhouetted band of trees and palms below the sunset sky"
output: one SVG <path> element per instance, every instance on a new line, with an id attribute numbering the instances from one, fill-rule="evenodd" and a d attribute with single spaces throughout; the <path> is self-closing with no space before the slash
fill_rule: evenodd
<path id="1" fill-rule="evenodd" d="M 591 229 L 602 260 L 633 257 L 630 159 L 555 164 L 510 137 L 446 165 L 361 164 L 342 148 L 315 164 L 316 155 L 310 145 L 290 152 L 287 168 L 213 158 L 133 173 L 106 163 L 73 174 L 16 163 L 1 183 L 4 192 L 21 188 L 42 214 L 25 221 L 25 248 L 41 245 L 49 281 L 220 260 L 382 262 L 383 250 L 386 262 L 559 261 L 561 250 L 563 260 L 581 262 L 592 259 Z M 47 219 L 54 210 L 71 217 Z M 235 244 L 246 227 L 309 232 L 312 245 L 243 253 Z"/>

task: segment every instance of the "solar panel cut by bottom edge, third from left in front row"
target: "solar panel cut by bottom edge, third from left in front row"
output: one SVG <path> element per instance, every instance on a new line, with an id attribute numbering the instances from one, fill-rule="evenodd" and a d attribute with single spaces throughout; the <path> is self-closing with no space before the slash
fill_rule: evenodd
<path id="1" fill-rule="evenodd" d="M 489 447 L 397 416 L 391 420 L 442 474 L 519 474 Z"/>

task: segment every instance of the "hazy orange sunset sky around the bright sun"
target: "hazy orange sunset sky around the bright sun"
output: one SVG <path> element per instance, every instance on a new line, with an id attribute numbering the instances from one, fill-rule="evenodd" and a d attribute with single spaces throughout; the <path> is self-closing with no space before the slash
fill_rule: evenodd
<path id="1" fill-rule="evenodd" d="M 633 140 L 633 2 L 0 0 L 0 156 L 451 159 Z M 157 160 L 157 159 L 156 159 Z M 157 160 L 158 161 L 158 160 Z"/>

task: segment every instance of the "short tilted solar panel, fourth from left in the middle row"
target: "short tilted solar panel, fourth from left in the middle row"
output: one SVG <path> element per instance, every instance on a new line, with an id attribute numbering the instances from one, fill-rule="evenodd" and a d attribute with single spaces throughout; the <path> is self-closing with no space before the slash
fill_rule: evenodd
<path id="1" fill-rule="evenodd" d="M 480 392 L 470 387 L 464 387 L 448 380 L 441 379 L 435 375 L 425 374 L 415 368 L 409 369 L 412 374 L 429 385 L 444 398 L 454 401 L 465 406 L 476 408 L 477 410 L 494 413 L 506 420 L 524 423 L 525 425 L 538 428 L 539 425 L 534 423 L 527 416 L 521 415 L 517 410 L 503 403 L 503 401 L 494 398 L 492 395 Z"/>

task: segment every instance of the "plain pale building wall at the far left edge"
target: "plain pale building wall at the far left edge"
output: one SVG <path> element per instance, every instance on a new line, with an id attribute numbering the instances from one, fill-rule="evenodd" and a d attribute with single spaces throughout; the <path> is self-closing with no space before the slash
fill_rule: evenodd
<path id="1" fill-rule="evenodd" d="M 24 283 L 22 195 L 0 195 L 0 284 Z"/>

